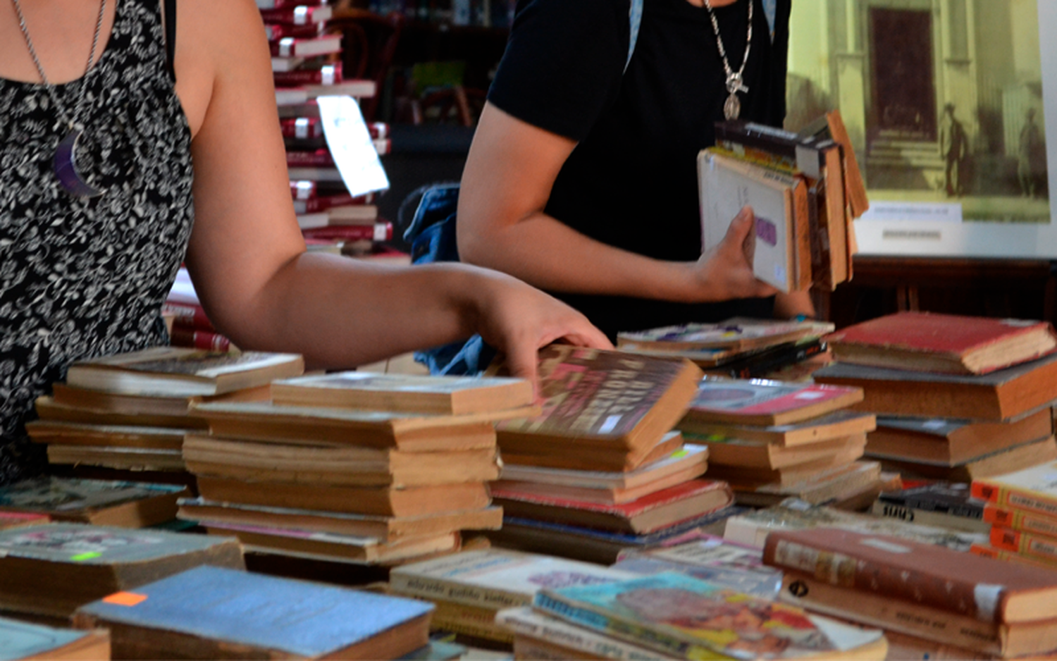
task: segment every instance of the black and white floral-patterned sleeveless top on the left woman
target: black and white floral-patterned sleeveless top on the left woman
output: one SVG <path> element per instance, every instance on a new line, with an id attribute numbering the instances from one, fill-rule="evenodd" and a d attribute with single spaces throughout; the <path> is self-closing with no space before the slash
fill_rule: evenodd
<path id="1" fill-rule="evenodd" d="M 24 423 L 71 362 L 167 342 L 159 314 L 193 220 L 190 129 L 167 67 L 159 0 L 116 0 L 88 86 L 78 168 L 97 198 L 52 171 L 68 129 L 40 84 L 0 79 L 0 483 L 39 472 Z"/>

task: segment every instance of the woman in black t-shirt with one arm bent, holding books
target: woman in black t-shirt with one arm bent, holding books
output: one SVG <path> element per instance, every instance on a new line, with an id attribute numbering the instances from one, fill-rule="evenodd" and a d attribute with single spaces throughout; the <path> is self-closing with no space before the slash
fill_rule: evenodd
<path id="1" fill-rule="evenodd" d="M 720 40 L 733 71 L 744 61 L 740 118 L 785 113 L 790 1 L 772 8 L 773 31 L 763 0 L 645 0 L 628 61 L 629 0 L 520 0 L 463 173 L 462 259 L 555 293 L 611 337 L 811 315 L 805 293 L 776 301 L 753 276 L 750 210 L 701 250 L 697 154 L 728 96 Z"/>

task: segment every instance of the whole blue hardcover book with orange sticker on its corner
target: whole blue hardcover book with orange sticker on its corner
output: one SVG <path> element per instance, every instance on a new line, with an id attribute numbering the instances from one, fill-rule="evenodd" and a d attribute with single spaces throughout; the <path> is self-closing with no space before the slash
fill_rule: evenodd
<path id="1" fill-rule="evenodd" d="M 117 658 L 395 659 L 428 642 L 419 601 L 199 567 L 77 609 Z"/>

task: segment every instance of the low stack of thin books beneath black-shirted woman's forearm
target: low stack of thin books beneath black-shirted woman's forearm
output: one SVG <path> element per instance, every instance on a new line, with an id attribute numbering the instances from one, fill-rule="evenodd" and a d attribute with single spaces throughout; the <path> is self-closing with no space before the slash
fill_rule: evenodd
<path id="1" fill-rule="evenodd" d="M 827 352 L 822 322 L 735 317 L 718 324 L 683 324 L 617 333 L 620 351 L 685 357 L 706 374 L 756 379 Z"/>

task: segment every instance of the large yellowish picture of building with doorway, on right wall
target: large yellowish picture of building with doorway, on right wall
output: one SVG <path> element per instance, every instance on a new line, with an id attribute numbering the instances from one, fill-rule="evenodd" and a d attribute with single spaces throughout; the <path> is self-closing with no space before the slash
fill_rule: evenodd
<path id="1" fill-rule="evenodd" d="M 1057 259 L 1054 34 L 1054 0 L 793 3 L 786 128 L 840 110 L 860 253 Z"/>

